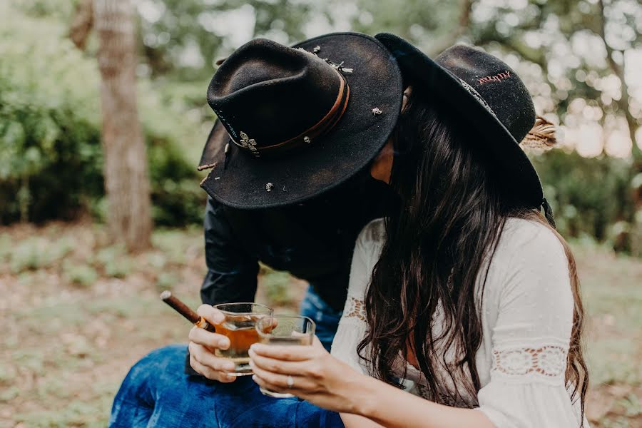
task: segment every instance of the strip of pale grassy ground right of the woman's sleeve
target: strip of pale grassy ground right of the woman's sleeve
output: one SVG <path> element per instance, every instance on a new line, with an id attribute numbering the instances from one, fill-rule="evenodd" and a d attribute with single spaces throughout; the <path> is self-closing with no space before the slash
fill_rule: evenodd
<path id="1" fill-rule="evenodd" d="M 642 427 L 642 263 L 576 246 L 586 311 L 593 427 Z"/>

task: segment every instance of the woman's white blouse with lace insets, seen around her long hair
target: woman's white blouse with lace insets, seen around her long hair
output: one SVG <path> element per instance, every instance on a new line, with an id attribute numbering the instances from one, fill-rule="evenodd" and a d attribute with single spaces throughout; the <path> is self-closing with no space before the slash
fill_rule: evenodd
<path id="1" fill-rule="evenodd" d="M 347 301 L 332 344 L 332 355 L 365 374 L 371 367 L 357 355 L 357 345 L 367 328 L 365 291 L 383 240 L 382 219 L 366 225 L 357 238 Z M 576 394 L 572 402 L 564 384 L 573 308 L 568 262 L 554 233 L 543 225 L 509 219 L 481 300 L 482 343 L 475 355 L 481 389 L 476 397 L 464 395 L 463 402 L 447 402 L 479 409 L 496 428 L 579 427 L 579 399 Z M 441 328 L 439 315 L 438 307 L 433 330 Z M 423 374 L 399 356 L 399 378 L 404 368 L 407 391 L 431 399 Z M 452 392 L 457 380 L 445 370 L 442 374 L 440 394 L 456 397 Z M 586 419 L 584 427 L 588 428 Z"/>

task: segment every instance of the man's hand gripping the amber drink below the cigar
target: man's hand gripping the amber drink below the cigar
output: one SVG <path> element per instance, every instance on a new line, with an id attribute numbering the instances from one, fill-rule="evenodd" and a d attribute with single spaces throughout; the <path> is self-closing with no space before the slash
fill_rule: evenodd
<path id="1" fill-rule="evenodd" d="M 200 305 L 196 311 L 211 325 L 220 324 L 225 315 L 210 305 Z M 230 340 L 217 333 L 208 332 L 200 327 L 190 330 L 190 366 L 208 379 L 218 382 L 233 382 L 236 377 L 229 373 L 234 371 L 234 363 L 226 358 L 216 357 L 214 350 L 226 350 Z"/>

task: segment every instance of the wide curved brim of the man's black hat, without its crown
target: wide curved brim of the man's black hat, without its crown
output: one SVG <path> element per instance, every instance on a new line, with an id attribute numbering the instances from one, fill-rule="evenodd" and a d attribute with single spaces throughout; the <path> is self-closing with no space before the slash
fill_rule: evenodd
<path id="1" fill-rule="evenodd" d="M 246 209 L 302 203 L 365 168 L 387 142 L 403 98 L 397 61 L 377 39 L 358 33 L 327 34 L 293 47 L 312 52 L 315 46 L 320 47 L 321 58 L 352 68 L 352 73 L 344 74 L 350 98 L 342 118 L 309 147 L 269 159 L 240 151 L 217 121 L 199 169 L 211 168 L 201 187 L 220 203 Z M 382 113 L 374 115 L 373 108 Z M 230 149 L 225 166 L 227 143 Z"/>

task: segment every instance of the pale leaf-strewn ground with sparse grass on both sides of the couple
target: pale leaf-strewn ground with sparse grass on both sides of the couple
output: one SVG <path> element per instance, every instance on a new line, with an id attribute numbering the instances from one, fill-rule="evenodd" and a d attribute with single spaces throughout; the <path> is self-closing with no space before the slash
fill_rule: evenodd
<path id="1" fill-rule="evenodd" d="M 185 342 L 190 326 L 158 293 L 198 306 L 202 231 L 157 230 L 152 242 L 129 256 L 96 225 L 0 229 L 0 427 L 104 427 L 129 367 Z M 574 248 L 589 315 L 591 426 L 642 427 L 642 262 Z M 257 300 L 297 310 L 305 282 L 261 273 Z"/>

